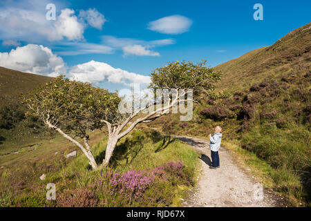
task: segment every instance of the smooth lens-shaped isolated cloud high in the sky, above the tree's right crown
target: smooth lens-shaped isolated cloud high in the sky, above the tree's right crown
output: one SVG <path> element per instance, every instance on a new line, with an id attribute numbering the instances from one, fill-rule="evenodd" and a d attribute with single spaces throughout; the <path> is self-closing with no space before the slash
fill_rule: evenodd
<path id="1" fill-rule="evenodd" d="M 187 17 L 181 15 L 171 15 L 149 22 L 148 28 L 164 34 L 178 35 L 183 32 L 187 32 L 191 24 L 192 21 Z"/>

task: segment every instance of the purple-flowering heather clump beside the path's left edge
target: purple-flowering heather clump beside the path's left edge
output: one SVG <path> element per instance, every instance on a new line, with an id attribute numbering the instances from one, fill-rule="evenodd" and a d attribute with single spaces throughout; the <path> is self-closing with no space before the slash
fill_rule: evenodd
<path id="1" fill-rule="evenodd" d="M 125 173 L 106 172 L 90 188 L 103 206 L 169 206 L 177 184 L 193 184 L 182 162 L 168 162 L 153 169 Z"/>

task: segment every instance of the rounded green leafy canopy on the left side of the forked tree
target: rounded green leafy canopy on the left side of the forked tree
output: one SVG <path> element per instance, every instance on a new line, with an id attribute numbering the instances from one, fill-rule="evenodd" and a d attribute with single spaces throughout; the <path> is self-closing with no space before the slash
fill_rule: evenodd
<path id="1" fill-rule="evenodd" d="M 27 115 L 38 115 L 50 127 L 59 127 L 79 137 L 87 130 L 102 128 L 104 122 L 120 121 L 117 107 L 120 97 L 89 83 L 57 77 L 37 88 L 26 99 L 30 107 Z"/>

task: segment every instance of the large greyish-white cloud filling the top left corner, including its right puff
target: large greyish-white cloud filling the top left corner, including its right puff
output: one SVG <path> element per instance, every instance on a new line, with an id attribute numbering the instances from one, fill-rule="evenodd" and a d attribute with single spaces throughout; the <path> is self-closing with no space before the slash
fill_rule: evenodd
<path id="1" fill-rule="evenodd" d="M 46 19 L 46 4 L 48 1 L 28 0 L 23 3 L 12 2 L 0 8 L 0 39 L 19 41 L 69 41 L 84 39 L 84 30 L 91 26 L 101 29 L 106 21 L 104 15 L 95 8 L 81 10 L 75 15 L 75 10 L 64 8 L 55 21 Z M 62 3 L 57 1 L 57 9 Z M 58 11 L 57 11 L 58 12 Z"/>

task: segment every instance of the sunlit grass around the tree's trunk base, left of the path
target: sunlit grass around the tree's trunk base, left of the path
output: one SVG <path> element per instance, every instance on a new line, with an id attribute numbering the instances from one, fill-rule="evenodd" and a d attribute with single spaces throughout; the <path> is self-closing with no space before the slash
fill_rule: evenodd
<path id="1" fill-rule="evenodd" d="M 100 134 L 100 131 L 95 131 L 91 135 L 91 138 L 95 138 L 91 144 L 97 162 L 103 159 L 107 142 L 107 138 L 102 138 Z M 106 190 L 99 191 L 98 186 L 96 191 L 90 186 L 98 180 L 111 179 L 106 177 L 109 171 L 119 174 L 142 171 L 149 174 L 151 171 L 158 171 L 167 162 L 181 161 L 181 171 L 177 173 L 172 169 L 164 169 L 168 180 L 164 182 L 162 178 L 156 178 L 152 182 L 153 187 L 147 188 L 145 192 L 147 197 L 134 198 L 130 202 L 131 206 L 178 206 L 185 191 L 194 185 L 197 153 L 187 144 L 161 137 L 152 131 L 133 131 L 120 140 L 109 169 L 101 171 L 90 171 L 86 157 L 79 150 L 76 158 L 67 160 L 64 157 L 66 153 L 76 149 L 64 138 L 55 137 L 50 142 L 42 142 L 31 154 L 21 151 L 19 154 L 1 156 L 0 166 L 4 167 L 0 169 L 1 206 L 55 206 L 53 202 L 46 202 L 44 199 L 44 187 L 49 182 L 56 184 L 59 202 L 66 205 L 73 206 L 75 201 L 79 201 L 66 200 L 70 198 L 69 193 L 75 194 L 77 191 L 75 196 L 81 194 L 79 197 L 89 200 L 89 204 L 79 202 L 79 205 L 93 206 L 93 202 L 96 202 L 96 206 L 129 206 L 124 195 L 113 192 L 114 195 L 111 196 Z M 56 152 L 58 153 L 55 155 Z M 46 174 L 44 181 L 39 180 L 42 173 Z M 109 188 L 114 190 L 111 186 L 106 189 Z M 153 202 L 153 198 L 160 201 Z"/>

